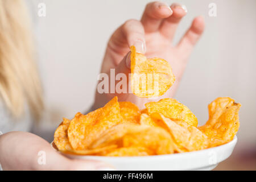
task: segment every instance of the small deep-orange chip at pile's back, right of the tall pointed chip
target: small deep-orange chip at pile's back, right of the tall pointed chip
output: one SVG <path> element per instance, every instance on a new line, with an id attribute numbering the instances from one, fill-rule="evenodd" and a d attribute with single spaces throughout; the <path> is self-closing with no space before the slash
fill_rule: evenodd
<path id="1" fill-rule="evenodd" d="M 131 102 L 119 102 L 120 114 L 124 121 L 139 123 L 141 111 Z"/>

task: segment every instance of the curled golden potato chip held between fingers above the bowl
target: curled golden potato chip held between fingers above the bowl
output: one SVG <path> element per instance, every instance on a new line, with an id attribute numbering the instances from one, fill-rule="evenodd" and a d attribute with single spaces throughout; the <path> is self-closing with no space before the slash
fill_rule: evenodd
<path id="1" fill-rule="evenodd" d="M 147 59 L 131 46 L 131 90 L 136 96 L 162 96 L 174 81 L 172 68 L 166 60 Z"/>

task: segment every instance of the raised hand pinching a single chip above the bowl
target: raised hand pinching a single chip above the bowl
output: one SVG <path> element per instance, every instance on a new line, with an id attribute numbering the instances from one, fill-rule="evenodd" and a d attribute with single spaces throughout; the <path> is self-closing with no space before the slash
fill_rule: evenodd
<path id="1" fill-rule="evenodd" d="M 115 75 L 117 73 L 129 73 L 129 51 L 130 46 L 133 45 L 138 52 L 145 53 L 147 57 L 163 58 L 171 64 L 176 77 L 175 84 L 159 98 L 174 97 L 189 55 L 204 30 L 203 17 L 196 17 L 180 42 L 174 46 L 172 40 L 175 31 L 186 13 L 185 7 L 177 3 L 172 4 L 171 7 L 162 2 L 148 3 L 141 21 L 127 20 L 114 32 L 106 48 L 101 73 L 109 75 L 110 68 L 115 68 Z M 118 96 L 119 101 L 133 102 L 140 109 L 144 107 L 146 102 L 152 101 L 147 98 L 139 98 L 134 94 L 100 94 L 96 90 L 93 109 L 103 106 L 114 96 Z"/>

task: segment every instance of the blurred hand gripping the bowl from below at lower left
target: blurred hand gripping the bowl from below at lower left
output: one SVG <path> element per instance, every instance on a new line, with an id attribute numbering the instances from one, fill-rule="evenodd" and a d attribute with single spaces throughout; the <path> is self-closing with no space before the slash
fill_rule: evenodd
<path id="1" fill-rule="evenodd" d="M 46 164 L 38 163 L 39 151 Z M 20 131 L 0 136 L 0 163 L 3 170 L 110 170 L 108 164 L 94 160 L 72 160 L 54 151 L 43 138 Z"/>

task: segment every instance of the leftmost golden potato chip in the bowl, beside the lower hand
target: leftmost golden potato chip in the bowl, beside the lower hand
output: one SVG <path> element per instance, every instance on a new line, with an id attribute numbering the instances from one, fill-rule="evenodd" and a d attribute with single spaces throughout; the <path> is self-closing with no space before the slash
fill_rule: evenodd
<path id="1" fill-rule="evenodd" d="M 71 150 L 72 147 L 68 141 L 68 126 L 71 121 L 63 118 L 63 122 L 57 127 L 54 133 L 54 143 L 59 150 Z"/>

